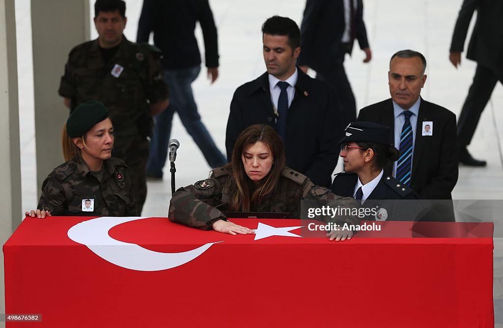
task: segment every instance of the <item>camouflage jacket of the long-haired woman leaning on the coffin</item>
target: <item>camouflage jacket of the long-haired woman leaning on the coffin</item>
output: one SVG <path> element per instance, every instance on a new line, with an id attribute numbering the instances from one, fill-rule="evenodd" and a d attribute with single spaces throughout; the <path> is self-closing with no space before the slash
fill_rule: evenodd
<path id="1" fill-rule="evenodd" d="M 169 218 L 190 227 L 210 230 L 219 220 L 226 220 L 222 211 L 228 210 L 230 196 L 236 190 L 232 175 L 223 168 L 215 168 L 209 179 L 178 189 L 171 198 Z M 285 167 L 281 172 L 276 190 L 263 201 L 251 208 L 255 212 L 288 212 L 290 218 L 300 218 L 300 201 L 342 200 L 346 206 L 358 207 L 353 197 L 341 197 L 329 189 L 314 185 L 305 175 Z M 344 218 L 337 223 L 359 224 L 356 216 Z"/>

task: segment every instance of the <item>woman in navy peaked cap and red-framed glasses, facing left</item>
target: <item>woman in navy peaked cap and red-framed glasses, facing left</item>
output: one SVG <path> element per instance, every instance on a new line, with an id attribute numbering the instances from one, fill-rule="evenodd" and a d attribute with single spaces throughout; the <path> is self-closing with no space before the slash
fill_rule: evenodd
<path id="1" fill-rule="evenodd" d="M 354 197 L 362 206 L 376 208 L 366 220 L 414 220 L 421 210 L 418 202 L 385 200 L 419 199 L 409 186 L 384 174 L 384 167 L 396 161 L 399 151 L 389 144 L 389 127 L 371 122 L 353 122 L 341 140 L 345 170 L 336 174 L 332 192 Z"/>

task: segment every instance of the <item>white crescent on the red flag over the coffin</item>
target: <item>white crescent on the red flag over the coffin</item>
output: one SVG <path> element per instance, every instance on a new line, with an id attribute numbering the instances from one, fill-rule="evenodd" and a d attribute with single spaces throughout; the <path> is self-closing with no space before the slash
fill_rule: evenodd
<path id="1" fill-rule="evenodd" d="M 109 230 L 115 226 L 143 218 L 147 217 L 97 217 L 71 227 L 68 230 L 68 237 L 76 243 L 86 245 L 96 255 L 110 263 L 138 271 L 160 271 L 178 267 L 194 260 L 211 245 L 220 243 L 208 243 L 181 253 L 160 253 L 147 250 L 137 244 L 118 241 L 108 234 Z"/>

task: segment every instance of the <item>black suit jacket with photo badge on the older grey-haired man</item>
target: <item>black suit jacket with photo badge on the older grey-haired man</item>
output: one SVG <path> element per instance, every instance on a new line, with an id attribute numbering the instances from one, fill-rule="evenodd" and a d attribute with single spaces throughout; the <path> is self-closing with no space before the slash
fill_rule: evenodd
<path id="1" fill-rule="evenodd" d="M 414 140 L 410 187 L 422 199 L 452 199 L 458 181 L 456 115 L 421 98 Z M 387 125 L 394 144 L 394 113 L 391 99 L 363 108 L 358 121 Z M 423 122 L 433 121 L 433 135 L 423 136 Z M 385 168 L 387 174 L 392 167 Z"/>

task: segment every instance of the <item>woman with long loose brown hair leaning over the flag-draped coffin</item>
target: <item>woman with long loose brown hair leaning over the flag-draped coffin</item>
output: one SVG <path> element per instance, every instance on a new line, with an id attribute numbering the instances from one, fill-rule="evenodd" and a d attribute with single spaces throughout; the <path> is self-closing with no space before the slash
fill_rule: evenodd
<path id="1" fill-rule="evenodd" d="M 338 204 L 358 206 L 352 197 L 333 194 L 286 167 L 280 136 L 270 126 L 258 124 L 239 135 L 230 163 L 215 168 L 209 179 L 173 194 L 168 215 L 171 221 L 189 227 L 245 235 L 254 231 L 227 221 L 222 211 L 288 212 L 290 218 L 299 218 L 302 199 L 340 200 Z M 346 216 L 335 223 L 359 222 L 357 216 Z M 344 241 L 352 235 L 347 230 L 332 231 L 327 237 Z"/>

